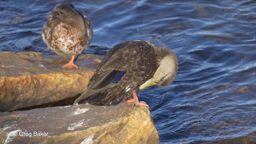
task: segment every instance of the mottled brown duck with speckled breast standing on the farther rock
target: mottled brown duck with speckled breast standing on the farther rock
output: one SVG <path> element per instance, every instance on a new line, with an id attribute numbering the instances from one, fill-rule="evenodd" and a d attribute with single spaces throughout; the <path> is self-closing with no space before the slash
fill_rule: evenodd
<path id="1" fill-rule="evenodd" d="M 42 39 L 56 54 L 72 55 L 62 68 L 78 69 L 74 64 L 75 55 L 87 49 L 92 40 L 92 29 L 86 14 L 72 4 L 58 4 L 47 17 L 41 32 Z"/>

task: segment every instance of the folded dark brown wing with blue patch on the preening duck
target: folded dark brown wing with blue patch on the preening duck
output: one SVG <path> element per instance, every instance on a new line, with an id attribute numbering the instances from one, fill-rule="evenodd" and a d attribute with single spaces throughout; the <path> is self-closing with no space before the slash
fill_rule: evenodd
<path id="1" fill-rule="evenodd" d="M 104 91 L 115 86 L 126 92 L 132 91 L 152 76 L 155 57 L 154 48 L 144 41 L 128 41 L 114 46 L 90 79 L 87 91 L 74 103 L 88 97 L 91 102 L 98 102 L 106 96 Z"/>

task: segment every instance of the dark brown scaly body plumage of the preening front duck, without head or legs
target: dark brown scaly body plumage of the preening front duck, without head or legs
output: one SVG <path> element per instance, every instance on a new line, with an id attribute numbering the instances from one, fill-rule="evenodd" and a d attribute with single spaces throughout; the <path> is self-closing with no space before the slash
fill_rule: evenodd
<path id="1" fill-rule="evenodd" d="M 154 76 L 163 57 L 159 54 L 170 53 L 167 48 L 160 49 L 142 40 L 123 42 L 114 46 L 90 79 L 87 91 L 76 102 L 111 105 L 132 97 L 132 90 L 136 90 L 137 93 L 140 85 Z M 116 70 L 125 71 L 126 74 L 118 83 L 112 83 L 111 78 Z"/>

